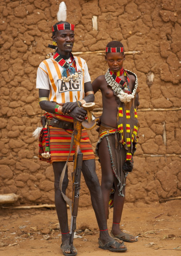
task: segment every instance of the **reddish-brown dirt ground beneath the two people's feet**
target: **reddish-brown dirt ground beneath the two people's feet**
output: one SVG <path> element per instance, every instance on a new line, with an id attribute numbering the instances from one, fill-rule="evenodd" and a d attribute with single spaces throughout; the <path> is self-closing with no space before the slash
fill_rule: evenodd
<path id="1" fill-rule="evenodd" d="M 181 209 L 180 200 L 150 205 L 126 203 L 121 228 L 139 237 L 138 242 L 126 242 L 128 251 L 121 253 L 127 256 L 180 255 L 181 214 L 179 209 Z M 68 214 L 70 219 L 69 210 Z M 111 209 L 108 220 L 109 231 L 112 215 Z M 78 256 L 112 255 L 113 252 L 98 248 L 98 225 L 92 207 L 79 209 L 76 231 L 78 232 L 81 226 L 85 226 L 84 224 L 88 229 L 77 233 L 82 238 L 74 239 Z M 0 254 L 2 256 L 63 255 L 60 250 L 61 236 L 58 225 L 55 209 L 1 209 Z"/>

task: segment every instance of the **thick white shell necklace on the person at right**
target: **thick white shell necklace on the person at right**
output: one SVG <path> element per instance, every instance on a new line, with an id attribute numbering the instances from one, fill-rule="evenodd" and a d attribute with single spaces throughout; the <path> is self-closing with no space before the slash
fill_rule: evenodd
<path id="1" fill-rule="evenodd" d="M 131 72 L 131 73 L 133 73 L 133 72 Z M 123 89 L 121 89 L 121 87 L 120 87 L 120 83 L 118 83 L 114 80 L 113 76 L 110 74 L 109 68 L 108 68 L 107 72 L 105 73 L 105 79 L 106 79 L 108 85 L 115 91 L 115 93 L 117 93 L 121 102 L 124 102 L 124 103 L 130 102 L 131 99 L 133 99 L 135 96 L 136 89 L 138 87 L 138 79 L 137 79 L 136 74 L 135 73 L 133 73 L 133 74 L 136 77 L 135 86 L 134 86 L 132 94 L 128 94 L 128 91 L 124 92 Z M 117 78 L 119 78 L 119 77 L 117 77 Z M 119 78 L 119 80 L 121 80 L 121 79 Z M 123 81 L 123 82 L 125 83 L 125 81 Z"/>

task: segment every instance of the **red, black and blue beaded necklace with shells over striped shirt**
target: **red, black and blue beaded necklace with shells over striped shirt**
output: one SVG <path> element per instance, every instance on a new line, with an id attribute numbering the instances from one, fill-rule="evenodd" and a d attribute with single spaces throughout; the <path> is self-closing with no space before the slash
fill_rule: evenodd
<path id="1" fill-rule="evenodd" d="M 53 56 L 54 60 L 56 60 L 58 64 L 63 68 L 63 71 L 61 74 L 62 75 L 61 80 L 63 82 L 68 82 L 72 79 L 73 82 L 74 81 L 78 82 L 78 79 L 81 78 L 81 76 L 83 75 L 83 72 L 82 70 L 77 71 L 76 60 L 73 57 L 72 53 L 70 57 L 71 57 L 71 62 L 69 63 L 67 60 L 64 60 L 62 58 L 62 56 L 57 52 L 57 50 Z M 74 65 L 74 67 L 72 65 Z M 67 71 L 69 73 L 69 76 L 67 76 Z"/>

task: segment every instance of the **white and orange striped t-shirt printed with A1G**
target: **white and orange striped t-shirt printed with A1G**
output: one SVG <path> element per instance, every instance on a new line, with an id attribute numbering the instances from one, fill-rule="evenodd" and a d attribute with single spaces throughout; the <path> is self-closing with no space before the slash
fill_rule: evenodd
<path id="1" fill-rule="evenodd" d="M 91 81 L 87 63 L 80 57 L 76 59 L 77 71 L 82 69 L 83 76 L 78 82 L 61 81 L 63 68 L 53 58 L 40 63 L 37 71 L 36 88 L 50 90 L 49 101 L 60 103 L 75 102 L 84 98 L 84 83 Z"/>

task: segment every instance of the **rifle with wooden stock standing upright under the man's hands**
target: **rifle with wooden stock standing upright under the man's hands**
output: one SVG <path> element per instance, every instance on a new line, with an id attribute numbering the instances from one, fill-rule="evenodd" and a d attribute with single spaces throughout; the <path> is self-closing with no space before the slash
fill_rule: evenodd
<path id="1" fill-rule="evenodd" d="M 73 165 L 73 175 L 72 175 L 72 217 L 71 217 L 71 228 L 69 233 L 69 245 L 71 246 L 70 251 L 73 254 L 73 236 L 76 230 L 76 218 L 78 212 L 78 202 L 79 202 L 79 190 L 81 182 L 81 171 L 82 171 L 82 160 L 83 153 L 80 148 L 82 124 L 76 119 L 73 119 L 74 124 L 74 144 L 75 144 L 75 155 L 74 155 L 74 165 Z M 71 255 L 71 254 L 70 254 Z"/>

